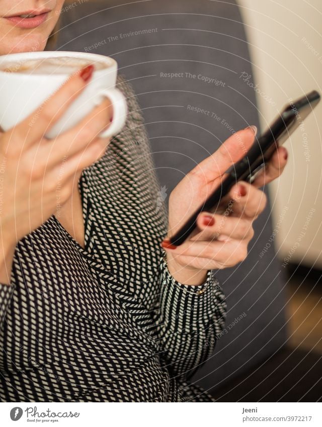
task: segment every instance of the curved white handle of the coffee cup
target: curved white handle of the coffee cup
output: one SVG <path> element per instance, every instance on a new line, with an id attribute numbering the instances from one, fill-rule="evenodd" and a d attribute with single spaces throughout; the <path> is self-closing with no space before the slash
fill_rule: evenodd
<path id="1" fill-rule="evenodd" d="M 127 116 L 127 104 L 124 95 L 118 89 L 104 89 L 100 92 L 100 95 L 108 98 L 113 108 L 113 120 L 108 129 L 100 134 L 101 138 L 110 138 L 123 129 Z M 99 105 L 101 102 L 102 99 L 95 104 Z"/>

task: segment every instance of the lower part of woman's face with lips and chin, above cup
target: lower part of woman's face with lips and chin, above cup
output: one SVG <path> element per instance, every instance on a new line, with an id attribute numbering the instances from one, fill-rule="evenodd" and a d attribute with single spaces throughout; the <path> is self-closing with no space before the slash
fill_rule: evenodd
<path id="1" fill-rule="evenodd" d="M 64 0 L 0 0 L 0 55 L 44 50 Z M 22 18 L 25 14 L 35 18 Z"/>

